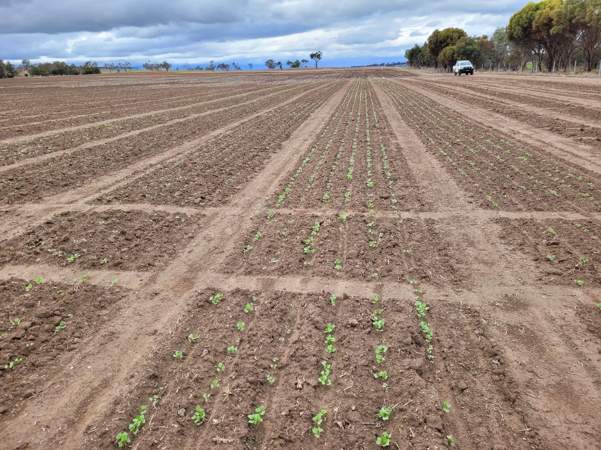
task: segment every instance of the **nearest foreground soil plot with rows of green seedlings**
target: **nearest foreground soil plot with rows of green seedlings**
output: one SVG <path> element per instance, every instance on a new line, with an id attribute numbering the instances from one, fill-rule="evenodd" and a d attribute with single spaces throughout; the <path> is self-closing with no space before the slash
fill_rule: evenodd
<path id="1" fill-rule="evenodd" d="M 418 371 L 427 369 L 427 358 L 415 363 L 424 344 L 412 342 L 411 326 L 397 325 L 394 301 L 384 303 L 378 293 L 202 290 L 107 410 L 108 430 L 91 431 L 94 445 L 400 442 L 395 430 L 414 409 L 407 400 L 422 397 L 427 383 Z M 442 405 L 421 401 L 424 413 L 442 415 Z M 365 423 L 374 421 L 376 428 Z M 406 433 L 416 442 L 426 438 L 425 431 Z"/>

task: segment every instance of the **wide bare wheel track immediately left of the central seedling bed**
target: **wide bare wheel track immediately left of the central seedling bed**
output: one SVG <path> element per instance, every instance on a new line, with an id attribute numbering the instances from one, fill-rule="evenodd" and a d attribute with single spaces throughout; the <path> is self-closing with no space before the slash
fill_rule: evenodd
<path id="1" fill-rule="evenodd" d="M 310 143 L 310 138 L 320 130 L 324 119 L 329 117 L 329 111 L 334 110 L 342 101 L 349 85 L 350 83 L 346 83 L 337 92 L 334 92 L 329 100 L 297 128 L 290 139 L 282 144 L 282 149 L 274 163 L 266 167 L 263 172 L 258 173 L 257 177 L 246 184 L 245 188 L 237 194 L 237 198 L 234 200 L 236 205 L 251 205 L 261 195 L 266 197 L 266 200 L 269 199 L 270 193 L 267 192 L 267 189 L 275 188 L 277 182 L 274 181 L 268 187 L 263 187 L 261 183 L 268 174 L 285 174 L 287 171 L 282 170 L 282 167 L 289 169 L 294 166 L 293 163 L 297 163 L 298 158 L 304 155 L 307 142 Z M 297 97 L 301 97 L 301 95 Z M 295 98 L 282 104 L 294 101 Z M 281 104 L 273 106 L 269 110 L 279 106 Z M 263 110 L 260 114 L 266 111 Z M 240 122 L 249 119 L 251 118 L 245 118 Z M 206 137 L 202 139 L 206 139 Z M 148 161 L 145 165 L 149 165 Z M 127 172 L 132 172 L 132 170 L 128 169 Z M 111 178 L 115 178 L 115 174 Z M 114 188 L 114 185 L 110 185 L 109 179 L 106 185 L 110 189 Z M 258 192 L 257 187 L 260 188 Z M 90 198 L 99 194 L 98 191 L 93 191 L 93 188 L 88 188 L 88 191 Z M 85 198 L 71 205 L 69 209 L 74 207 L 84 209 Z M 58 211 L 52 211 L 52 214 L 56 212 Z M 40 220 L 39 217 L 37 219 Z M 103 329 L 103 336 L 99 336 L 99 345 L 94 346 L 93 343 L 90 343 L 87 349 L 83 349 L 76 357 L 77 359 L 72 361 L 73 370 L 66 368 L 64 373 L 56 375 L 47 383 L 42 397 L 32 401 L 16 418 L 5 423 L 4 430 L 0 429 L 0 432 L 6 437 L 7 442 L 15 442 L 19 445 L 26 442 L 27 445 L 31 444 L 34 447 L 42 445 L 42 443 L 47 446 L 52 442 L 53 445 L 61 446 L 61 448 L 79 448 L 79 443 L 84 442 L 85 430 L 88 425 L 94 426 L 93 422 L 96 416 L 102 415 L 108 410 L 113 395 L 118 395 L 118 389 L 123 384 L 127 385 L 127 379 L 133 368 L 144 361 L 147 350 L 153 346 L 154 338 L 152 336 L 156 332 L 156 328 L 175 322 L 183 311 L 186 302 L 184 294 L 201 286 L 218 286 L 216 283 L 222 283 L 219 286 L 224 290 L 228 289 L 228 277 L 219 275 L 216 269 L 222 265 L 227 254 L 223 249 L 227 248 L 233 241 L 233 237 L 250 223 L 250 215 L 239 217 L 237 221 L 228 220 L 228 217 L 222 212 L 208 217 L 202 235 L 191 241 L 187 247 L 188 251 L 182 251 L 180 257 L 175 259 L 156 279 L 153 278 L 142 284 L 141 290 L 130 295 L 130 307 L 122 316 L 116 317 L 113 323 Z M 211 255 L 216 257 L 212 258 Z M 267 289 L 273 287 L 271 280 L 264 280 L 263 284 Z M 297 284 L 306 286 L 302 280 L 298 280 Z M 248 286 L 246 280 L 245 285 Z M 141 304 L 144 305 L 143 313 L 138 311 Z M 170 308 L 165 308 L 165 305 L 169 305 Z M 118 334 L 113 333 L 108 342 L 102 343 L 105 333 L 112 331 L 118 331 Z M 89 371 L 86 370 L 86 367 L 88 365 L 95 366 L 97 353 L 102 353 L 106 359 L 106 365 L 100 369 L 100 373 L 91 378 L 88 377 Z M 124 355 L 127 355 L 127 358 L 124 358 Z M 61 385 L 64 381 L 69 383 L 68 389 Z M 111 392 L 113 389 L 111 386 L 118 386 L 117 391 Z M 31 424 L 30 418 L 37 416 L 40 410 L 43 410 L 44 415 L 47 416 L 47 421 L 44 420 L 44 429 L 33 428 Z M 92 418 L 91 423 L 79 420 L 85 416 Z M 46 427 L 46 424 L 49 425 Z M 75 442 L 77 442 L 76 445 L 74 445 Z"/>

